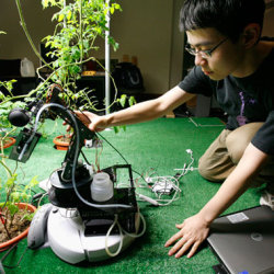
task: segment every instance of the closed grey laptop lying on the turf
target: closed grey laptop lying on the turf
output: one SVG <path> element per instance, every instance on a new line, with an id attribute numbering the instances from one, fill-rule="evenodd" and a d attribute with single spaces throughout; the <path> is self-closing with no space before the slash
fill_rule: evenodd
<path id="1" fill-rule="evenodd" d="M 274 273 L 274 212 L 258 206 L 217 218 L 207 238 L 216 273 Z"/>

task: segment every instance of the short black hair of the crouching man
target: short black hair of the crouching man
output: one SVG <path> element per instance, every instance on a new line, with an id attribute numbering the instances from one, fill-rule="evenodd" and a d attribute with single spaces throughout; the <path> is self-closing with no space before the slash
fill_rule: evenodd
<path id="1" fill-rule="evenodd" d="M 264 0 L 185 0 L 180 13 L 181 31 L 214 27 L 232 42 L 250 23 L 263 26 Z"/>

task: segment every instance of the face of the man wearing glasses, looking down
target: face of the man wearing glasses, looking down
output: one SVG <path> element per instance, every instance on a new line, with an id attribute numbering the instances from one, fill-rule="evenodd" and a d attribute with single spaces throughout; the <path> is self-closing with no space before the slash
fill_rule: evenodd
<path id="1" fill-rule="evenodd" d="M 195 52 L 210 50 L 224 41 L 208 58 L 203 58 L 202 54 L 196 54 L 195 65 L 201 66 L 206 76 L 213 80 L 221 80 L 229 75 L 237 75 L 243 57 L 243 48 L 239 43 L 233 44 L 212 27 L 193 30 L 186 32 L 186 35 L 190 46 Z"/>

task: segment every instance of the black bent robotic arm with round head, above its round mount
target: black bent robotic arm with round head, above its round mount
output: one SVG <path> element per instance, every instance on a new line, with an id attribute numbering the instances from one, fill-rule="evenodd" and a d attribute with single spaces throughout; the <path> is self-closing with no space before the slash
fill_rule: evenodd
<path id="1" fill-rule="evenodd" d="M 62 163 L 64 171 L 61 179 L 64 182 L 70 182 L 72 176 L 71 170 L 73 159 L 79 157 L 81 148 L 84 146 L 84 139 L 95 140 L 96 136 L 93 132 L 89 130 L 89 128 L 71 111 L 59 103 L 55 103 L 56 101 L 58 102 L 59 91 L 59 85 L 55 84 L 52 89 L 53 95 L 50 96 L 50 100 L 47 100 L 47 103 L 44 103 L 42 100 L 36 100 L 26 107 L 28 111 L 22 109 L 14 109 L 11 111 L 9 114 L 9 121 L 14 126 L 25 126 L 31 123 L 32 117 L 36 117 L 36 119 L 34 127 L 31 129 L 24 127 L 23 130 L 21 130 L 19 137 L 16 138 L 16 144 L 11 151 L 10 159 L 26 162 L 30 158 L 41 137 L 41 134 L 37 133 L 37 124 L 44 112 L 46 112 L 46 117 L 52 119 L 59 116 L 66 121 L 67 124 L 75 129 L 75 132 L 79 132 L 79 140 L 76 141 L 76 135 L 73 135 Z"/>

